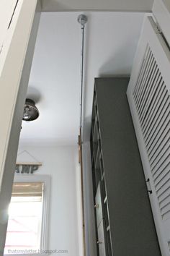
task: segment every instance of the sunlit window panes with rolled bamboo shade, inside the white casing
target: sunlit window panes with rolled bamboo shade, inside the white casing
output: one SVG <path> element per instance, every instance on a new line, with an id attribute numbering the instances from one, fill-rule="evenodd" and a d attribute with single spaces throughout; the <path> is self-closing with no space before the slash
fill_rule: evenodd
<path id="1" fill-rule="evenodd" d="M 4 254 L 40 250 L 42 226 L 42 182 L 17 182 L 9 205 Z"/>

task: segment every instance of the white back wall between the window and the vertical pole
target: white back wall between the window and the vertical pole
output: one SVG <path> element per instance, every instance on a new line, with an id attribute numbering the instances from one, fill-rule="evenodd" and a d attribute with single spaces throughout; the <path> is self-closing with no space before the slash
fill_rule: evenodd
<path id="1" fill-rule="evenodd" d="M 32 161 L 42 166 L 38 174 L 51 177 L 49 249 L 68 249 L 68 256 L 81 256 L 81 187 L 78 147 L 20 146 L 17 161 Z M 19 155 L 19 153 L 22 153 Z"/>

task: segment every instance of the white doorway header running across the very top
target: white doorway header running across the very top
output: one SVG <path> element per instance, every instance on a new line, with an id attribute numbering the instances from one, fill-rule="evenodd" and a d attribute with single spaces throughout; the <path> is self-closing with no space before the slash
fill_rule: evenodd
<path id="1" fill-rule="evenodd" d="M 151 11 L 153 0 L 42 0 L 45 12 L 73 10 Z"/>

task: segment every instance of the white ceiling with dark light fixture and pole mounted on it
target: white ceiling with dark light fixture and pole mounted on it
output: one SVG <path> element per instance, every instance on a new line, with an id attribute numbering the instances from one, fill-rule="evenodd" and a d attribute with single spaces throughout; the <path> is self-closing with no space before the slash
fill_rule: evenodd
<path id="1" fill-rule="evenodd" d="M 20 143 L 72 145 L 79 134 L 79 12 L 42 13 L 28 95 L 40 117 L 22 122 Z M 84 70 L 84 117 L 89 124 L 94 77 L 130 74 L 141 13 L 88 12 Z"/>

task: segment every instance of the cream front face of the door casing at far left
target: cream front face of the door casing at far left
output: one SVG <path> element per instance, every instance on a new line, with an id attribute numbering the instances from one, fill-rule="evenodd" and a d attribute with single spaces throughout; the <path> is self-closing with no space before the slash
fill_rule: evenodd
<path id="1" fill-rule="evenodd" d="M 21 3 L 22 6 L 19 9 L 14 34 L 12 35 L 10 43 L 8 43 L 9 47 L 6 49 L 6 58 L 1 68 L 0 108 L 3 109 L 3 114 L 1 114 L 3 125 L 1 125 L 0 129 L 0 190 L 12 127 L 12 118 L 14 116 L 14 108 L 24 65 L 24 57 L 26 55 L 32 23 L 35 17 L 35 9 L 37 7 L 37 0 L 23 0 L 20 1 L 20 4 Z M 20 40 L 20 38 L 22 38 L 22 40 Z"/>

